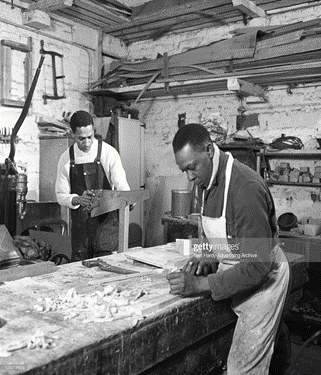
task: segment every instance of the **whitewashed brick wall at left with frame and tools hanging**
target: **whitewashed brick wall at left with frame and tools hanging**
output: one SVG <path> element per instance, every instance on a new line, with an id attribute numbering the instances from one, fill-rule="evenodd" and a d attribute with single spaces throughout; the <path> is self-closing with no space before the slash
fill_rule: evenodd
<path id="1" fill-rule="evenodd" d="M 52 19 L 49 28 L 37 31 L 22 24 L 22 11 L 10 4 L 0 3 L 0 39 L 6 39 L 27 44 L 27 38 L 32 38 L 32 77 L 40 60 L 40 41 L 44 40 L 44 48 L 64 55 L 63 65 L 66 76 L 66 99 L 48 100 L 44 104 L 43 94 L 52 94 L 52 65 L 51 57 L 46 55 L 42 71 L 34 92 L 32 106 L 25 119 L 18 137 L 21 141 L 16 145 L 15 162 L 27 163 L 28 199 L 39 199 L 39 139 L 38 127 L 35 121 L 37 115 L 46 115 L 61 120 L 62 113 L 78 109 L 88 110 L 89 100 L 82 94 L 88 82 L 97 77 L 97 59 L 95 56 L 98 44 L 98 32 L 82 25 L 77 25 L 60 18 Z M 90 40 L 90 43 L 88 43 Z M 23 56 L 20 56 L 23 58 Z M 57 74 L 60 61 L 57 60 Z M 14 59 L 12 65 L 12 98 L 23 100 L 23 70 L 22 62 Z M 59 89 L 59 86 L 58 86 Z M 60 93 L 60 89 L 58 94 Z M 0 129 L 13 128 L 21 108 L 0 106 Z M 0 144 L 0 162 L 9 156 L 10 145 Z"/>

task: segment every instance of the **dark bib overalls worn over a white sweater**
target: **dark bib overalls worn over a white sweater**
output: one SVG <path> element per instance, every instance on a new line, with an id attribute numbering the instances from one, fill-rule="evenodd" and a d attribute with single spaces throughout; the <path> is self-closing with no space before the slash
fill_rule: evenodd
<path id="1" fill-rule="evenodd" d="M 97 156 L 92 163 L 75 164 L 74 146 L 69 148 L 71 193 L 81 196 L 85 190 L 112 190 L 101 165 L 102 142 L 98 141 Z M 72 261 L 108 255 L 118 247 L 118 212 L 90 217 L 79 207 L 71 210 Z"/>

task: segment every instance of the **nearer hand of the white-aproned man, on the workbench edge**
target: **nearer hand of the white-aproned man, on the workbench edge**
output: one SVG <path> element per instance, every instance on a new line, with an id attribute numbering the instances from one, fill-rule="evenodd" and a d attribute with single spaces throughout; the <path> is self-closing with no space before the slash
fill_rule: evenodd
<path id="1" fill-rule="evenodd" d="M 188 272 L 171 272 L 166 278 L 169 281 L 171 294 L 191 296 L 210 290 L 207 277 L 194 276 Z"/>

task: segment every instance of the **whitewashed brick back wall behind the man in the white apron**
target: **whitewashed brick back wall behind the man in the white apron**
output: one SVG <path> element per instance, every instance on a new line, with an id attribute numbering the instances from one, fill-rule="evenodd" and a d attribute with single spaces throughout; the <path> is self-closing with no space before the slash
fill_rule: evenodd
<path id="1" fill-rule="evenodd" d="M 275 14 L 269 20 L 254 19 L 249 26 L 288 24 L 307 21 L 321 17 L 321 6 Z M 157 41 L 142 41 L 129 46 L 131 59 L 152 58 L 157 53 L 167 52 L 169 55 L 184 52 L 189 48 L 206 45 L 211 42 L 230 37 L 230 31 L 244 26 L 235 24 L 216 29 L 206 29 L 184 34 L 168 34 Z M 267 104 L 244 104 L 234 94 L 207 93 L 204 95 L 182 96 L 178 98 L 162 98 L 142 100 L 137 108 L 140 118 L 146 123 L 146 168 L 147 187 L 152 198 L 146 209 L 148 245 L 161 242 L 161 216 L 170 209 L 170 203 L 164 203 L 159 195 L 169 197 L 170 194 L 160 191 L 164 179 L 175 181 L 180 172 L 175 170 L 171 141 L 177 130 L 177 116 L 186 112 L 187 122 L 198 121 L 199 116 L 206 117 L 211 112 L 220 111 L 226 118 L 229 132 L 235 130 L 237 108 L 245 105 L 247 113 L 258 113 L 260 126 L 251 128 L 253 136 L 270 142 L 281 133 L 295 135 L 302 139 L 306 149 L 316 149 L 316 136 L 321 136 L 321 85 L 299 85 L 287 93 L 286 87 L 270 87 Z M 291 162 L 291 166 L 299 167 L 302 161 Z M 313 170 L 314 163 L 311 162 Z M 173 178 L 174 177 L 174 178 Z M 184 182 L 182 182 L 184 184 Z M 165 184 L 166 185 L 166 184 Z M 166 185 L 170 190 L 170 183 Z M 321 203 L 313 202 L 311 193 L 320 194 L 320 189 L 302 187 L 271 188 L 277 206 L 277 215 L 291 211 L 299 218 L 304 216 L 321 216 Z M 157 213 L 155 213 L 157 211 Z"/>

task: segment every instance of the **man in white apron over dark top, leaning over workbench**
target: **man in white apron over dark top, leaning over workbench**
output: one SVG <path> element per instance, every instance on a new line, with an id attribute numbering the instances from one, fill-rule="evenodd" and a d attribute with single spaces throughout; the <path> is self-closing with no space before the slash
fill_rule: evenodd
<path id="1" fill-rule="evenodd" d="M 171 293 L 230 298 L 238 321 L 227 374 L 267 375 L 289 285 L 271 193 L 258 173 L 221 152 L 202 125 L 180 128 L 173 149 L 179 168 L 204 189 L 206 242 L 181 272 L 167 276 Z"/>

